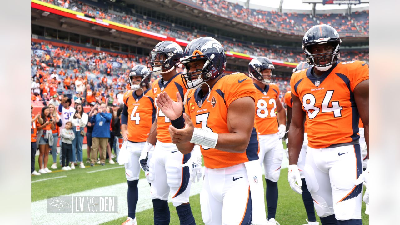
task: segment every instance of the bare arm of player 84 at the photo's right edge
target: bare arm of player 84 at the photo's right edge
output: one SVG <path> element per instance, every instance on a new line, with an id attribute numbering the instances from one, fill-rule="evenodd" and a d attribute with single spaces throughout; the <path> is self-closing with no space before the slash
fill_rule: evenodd
<path id="1" fill-rule="evenodd" d="M 364 123 L 364 137 L 367 144 L 367 149 L 369 146 L 369 90 L 368 90 L 368 80 L 363 80 L 354 88 L 354 100 L 358 108 L 358 114 L 360 115 L 362 123 Z"/>

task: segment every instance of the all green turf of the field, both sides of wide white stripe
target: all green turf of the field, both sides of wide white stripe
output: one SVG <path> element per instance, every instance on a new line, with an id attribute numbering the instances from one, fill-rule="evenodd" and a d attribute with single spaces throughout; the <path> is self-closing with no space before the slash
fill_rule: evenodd
<path id="1" fill-rule="evenodd" d="M 86 162 L 86 149 L 83 151 L 83 159 Z M 57 162 L 59 161 L 57 157 Z M 48 168 L 50 169 L 53 163 L 52 156 L 49 155 Z M 38 179 L 46 179 L 50 177 L 59 177 L 66 175 L 67 177 L 47 180 L 32 183 L 32 196 L 31 201 L 38 201 L 42 199 L 46 199 L 50 196 L 60 196 L 60 195 L 68 195 L 71 193 L 76 193 L 79 191 L 85 191 L 88 189 L 94 189 L 98 187 L 104 187 L 108 185 L 115 185 L 118 183 L 126 182 L 126 177 L 124 175 L 124 168 L 118 163 L 114 165 L 108 164 L 106 162 L 105 166 L 100 166 L 96 164 L 94 167 L 90 167 L 86 164 L 85 169 L 80 169 L 76 166 L 75 170 L 70 171 L 61 171 L 61 167 L 57 164 L 58 169 L 50 169 L 54 172 L 47 173 L 40 176 L 32 176 L 32 181 Z M 98 169 L 106 169 L 112 167 L 121 167 L 118 169 L 111 169 L 106 171 L 101 171 L 97 173 L 86 173 L 87 171 L 94 171 Z M 38 170 L 38 156 L 36 156 L 36 170 Z M 59 172 L 57 172 L 59 171 Z M 290 186 L 287 182 L 287 169 L 282 169 L 280 173 L 280 180 L 278 181 L 278 189 L 279 189 L 279 197 L 278 197 L 278 208 L 276 212 L 276 220 L 281 225 L 302 225 L 306 222 L 306 211 L 304 209 L 304 205 L 302 202 L 301 195 L 295 193 L 290 189 Z M 141 171 L 140 179 L 144 178 L 144 173 Z M 264 181 L 264 189 L 266 188 L 265 179 Z M 365 189 L 364 189 L 365 191 Z M 200 196 L 194 195 L 190 197 L 190 205 L 192 207 L 192 212 L 194 218 L 196 219 L 196 224 L 204 224 L 201 217 L 200 211 Z M 170 212 L 171 212 L 171 225 L 178 225 L 179 219 L 176 214 L 176 209 L 172 205 L 169 204 Z M 364 214 L 365 211 L 365 203 L 362 203 L 362 221 L 364 225 L 368 225 L 368 215 Z M 153 209 L 148 209 L 136 213 L 136 218 L 138 220 L 138 224 L 140 225 L 152 225 L 153 223 Z M 126 220 L 126 217 L 121 217 L 119 219 L 108 221 L 103 223 L 103 225 L 115 225 L 122 224 Z M 319 221 L 318 217 L 317 220 Z"/>

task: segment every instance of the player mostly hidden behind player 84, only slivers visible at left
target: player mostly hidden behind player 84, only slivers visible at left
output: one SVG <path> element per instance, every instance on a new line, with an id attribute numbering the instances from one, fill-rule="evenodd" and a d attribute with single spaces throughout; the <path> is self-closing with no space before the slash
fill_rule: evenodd
<path id="1" fill-rule="evenodd" d="M 308 64 L 308 62 L 300 62 L 296 68 L 293 69 L 293 72 L 296 72 L 297 70 L 304 70 L 307 69 L 309 67 L 311 67 L 312 65 Z M 288 91 L 285 93 L 284 96 L 284 101 L 286 104 L 286 110 L 288 110 L 288 124 L 286 126 L 286 129 L 288 130 L 290 127 L 290 121 L 292 119 L 292 95 L 291 95 L 291 91 Z M 286 135 L 287 137 L 287 135 Z M 307 144 L 308 144 L 308 140 L 307 140 L 307 125 L 304 125 L 304 141 L 303 141 L 303 145 L 302 145 L 302 149 L 300 151 L 300 155 L 299 155 L 299 159 L 297 161 L 297 166 L 299 168 L 300 171 L 300 178 L 301 181 L 303 183 L 303 185 L 301 186 L 302 189 L 302 199 L 303 199 L 303 203 L 304 203 L 304 207 L 306 208 L 306 213 L 307 213 L 307 217 L 308 219 L 306 219 L 307 223 L 304 225 L 318 225 L 319 222 L 317 222 L 317 219 L 315 217 L 315 213 L 314 213 L 314 200 L 312 200 L 310 191 L 308 191 L 307 189 L 307 184 L 306 184 L 306 179 L 304 177 L 304 163 L 306 162 L 306 149 L 307 149 Z M 289 139 L 286 138 L 286 155 L 289 159 L 289 155 L 288 155 L 288 146 L 289 146 Z"/>

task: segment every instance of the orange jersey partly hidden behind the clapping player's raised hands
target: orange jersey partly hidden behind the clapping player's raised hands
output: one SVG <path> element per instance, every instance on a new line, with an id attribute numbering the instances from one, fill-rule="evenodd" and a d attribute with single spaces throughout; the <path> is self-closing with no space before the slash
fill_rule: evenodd
<path id="1" fill-rule="evenodd" d="M 154 106 L 156 107 L 156 120 L 157 120 L 157 140 L 164 143 L 171 143 L 170 132 L 168 127 L 171 125 L 171 121 L 164 113 L 158 108 L 156 104 L 157 95 L 165 91 L 168 93 L 172 100 L 176 101 L 176 92 L 179 92 L 182 100 L 186 94 L 187 89 L 185 88 L 181 73 L 176 74 L 168 82 L 164 84 L 163 78 L 158 78 L 153 82 L 153 95 L 154 95 Z"/>

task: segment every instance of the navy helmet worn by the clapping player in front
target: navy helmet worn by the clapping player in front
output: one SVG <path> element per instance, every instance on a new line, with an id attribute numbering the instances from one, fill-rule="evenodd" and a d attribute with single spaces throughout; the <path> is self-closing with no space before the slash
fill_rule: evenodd
<path id="1" fill-rule="evenodd" d="M 203 68 L 189 72 L 188 63 L 198 60 L 205 61 Z M 197 38 L 186 46 L 180 62 L 184 65 L 184 74 L 181 76 L 186 88 L 198 88 L 204 81 L 215 79 L 225 71 L 225 50 L 214 38 Z"/>

